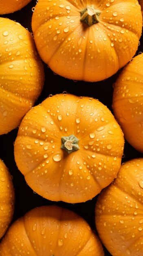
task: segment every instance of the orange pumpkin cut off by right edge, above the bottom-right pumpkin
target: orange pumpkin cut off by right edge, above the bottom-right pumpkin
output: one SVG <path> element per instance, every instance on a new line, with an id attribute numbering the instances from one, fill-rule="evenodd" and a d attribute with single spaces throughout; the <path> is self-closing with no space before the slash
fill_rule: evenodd
<path id="1" fill-rule="evenodd" d="M 114 83 L 112 109 L 125 139 L 143 153 L 143 54 L 128 63 Z"/>

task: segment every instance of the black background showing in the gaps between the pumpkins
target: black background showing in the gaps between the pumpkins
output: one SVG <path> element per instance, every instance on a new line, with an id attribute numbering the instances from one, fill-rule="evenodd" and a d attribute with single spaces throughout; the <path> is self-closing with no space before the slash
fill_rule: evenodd
<path id="1" fill-rule="evenodd" d="M 22 8 L 20 11 L 16 11 L 11 14 L 3 15 L 2 17 L 15 20 L 20 22 L 20 24 L 31 30 L 31 17 L 32 17 L 32 7 L 36 4 L 36 0 L 32 0 L 26 7 Z M 140 46 L 136 54 L 139 54 L 142 49 L 142 38 L 140 40 Z M 44 64 L 44 63 L 43 63 Z M 65 79 L 59 75 L 55 75 L 50 68 L 44 64 L 45 70 L 45 84 L 39 99 L 35 103 L 41 103 L 49 94 L 57 94 L 66 91 L 67 93 L 75 94 L 77 96 L 88 96 L 95 99 L 99 99 L 104 105 L 106 105 L 112 112 L 112 94 L 113 94 L 113 83 L 117 79 L 117 76 L 121 72 L 119 70 L 117 74 L 114 74 L 109 79 L 96 83 L 88 83 L 84 81 L 73 81 Z M 113 112 L 112 112 L 113 113 Z M 42 198 L 37 195 L 33 190 L 26 184 L 24 176 L 18 170 L 13 153 L 13 143 L 17 136 L 18 128 L 12 130 L 6 135 L 0 135 L 0 158 L 4 161 L 6 166 L 9 168 L 11 175 L 13 176 L 13 184 L 15 188 L 15 211 L 13 220 L 18 219 L 23 216 L 27 211 L 33 209 L 34 207 L 42 205 L 52 205 L 68 208 L 72 211 L 78 213 L 83 217 L 93 230 L 96 231 L 95 227 L 95 204 L 97 196 L 92 200 L 84 203 L 68 204 L 65 202 L 52 202 Z M 122 157 L 122 163 L 128 161 L 132 158 L 142 157 L 142 154 L 136 151 L 127 141 L 125 141 L 124 154 Z M 105 249 L 105 256 L 110 256 L 110 253 Z"/>

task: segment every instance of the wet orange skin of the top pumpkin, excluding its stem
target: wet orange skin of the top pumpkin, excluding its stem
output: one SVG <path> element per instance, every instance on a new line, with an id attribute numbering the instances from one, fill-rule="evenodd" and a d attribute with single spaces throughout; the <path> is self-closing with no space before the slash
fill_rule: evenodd
<path id="1" fill-rule="evenodd" d="M 80 11 L 86 7 L 101 12 L 99 22 L 88 26 L 80 21 Z M 32 30 L 37 50 L 53 72 L 68 79 L 101 81 L 136 53 L 142 31 L 141 6 L 136 0 L 56 0 L 54 4 L 39 0 Z"/>

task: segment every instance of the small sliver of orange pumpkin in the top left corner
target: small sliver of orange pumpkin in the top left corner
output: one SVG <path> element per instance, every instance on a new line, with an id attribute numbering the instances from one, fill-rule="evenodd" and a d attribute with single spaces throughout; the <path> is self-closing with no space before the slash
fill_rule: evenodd
<path id="1" fill-rule="evenodd" d="M 29 2 L 31 2 L 31 0 L 0 0 L 0 14 L 18 11 Z"/>

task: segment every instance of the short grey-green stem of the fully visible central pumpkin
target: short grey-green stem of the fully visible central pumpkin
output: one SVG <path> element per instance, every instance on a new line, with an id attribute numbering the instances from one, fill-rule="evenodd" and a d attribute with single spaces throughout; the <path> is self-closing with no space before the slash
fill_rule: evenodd
<path id="1" fill-rule="evenodd" d="M 62 137 L 62 146 L 61 148 L 66 150 L 68 154 L 72 153 L 75 150 L 79 149 L 78 139 L 74 135 L 63 136 Z"/>

